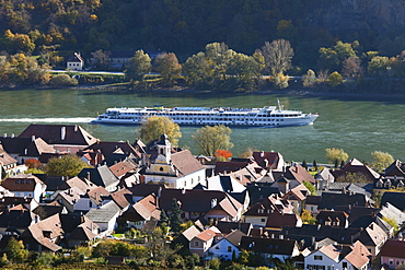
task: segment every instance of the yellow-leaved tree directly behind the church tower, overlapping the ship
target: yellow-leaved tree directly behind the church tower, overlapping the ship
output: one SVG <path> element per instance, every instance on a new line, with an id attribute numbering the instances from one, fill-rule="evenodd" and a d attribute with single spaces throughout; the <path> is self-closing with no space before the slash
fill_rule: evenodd
<path id="1" fill-rule="evenodd" d="M 149 143 L 152 140 L 158 140 L 162 134 L 169 137 L 173 145 L 177 145 L 178 139 L 182 138 L 180 126 L 165 116 L 151 116 L 147 121 L 142 122 L 138 128 L 137 133 L 142 141 Z"/>

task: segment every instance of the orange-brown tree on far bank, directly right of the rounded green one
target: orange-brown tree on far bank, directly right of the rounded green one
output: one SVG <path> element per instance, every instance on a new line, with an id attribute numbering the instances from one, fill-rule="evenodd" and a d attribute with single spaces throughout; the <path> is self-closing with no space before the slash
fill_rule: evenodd
<path id="1" fill-rule="evenodd" d="M 165 83 L 172 83 L 174 77 L 182 72 L 182 64 L 178 63 L 177 57 L 173 52 L 158 55 L 154 64 Z"/>

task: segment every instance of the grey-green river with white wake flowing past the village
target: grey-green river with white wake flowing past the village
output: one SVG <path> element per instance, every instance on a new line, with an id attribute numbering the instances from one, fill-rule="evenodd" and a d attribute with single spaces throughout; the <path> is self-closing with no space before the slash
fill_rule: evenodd
<path id="1" fill-rule="evenodd" d="M 326 162 L 325 149 L 344 149 L 350 156 L 370 161 L 375 150 L 405 161 L 405 131 L 402 130 L 405 98 L 325 97 L 280 94 L 129 93 L 95 90 L 2 90 L 0 91 L 0 136 L 19 134 L 30 124 L 78 124 L 104 141 L 135 140 L 136 126 L 90 125 L 108 107 L 175 106 L 263 107 L 277 104 L 287 109 L 319 113 L 313 126 L 286 128 L 233 128 L 231 152 L 246 148 L 280 152 L 285 160 Z M 194 154 L 192 140 L 197 128 L 182 127 L 181 146 Z M 1 140 L 1 138 L 0 138 Z"/>

